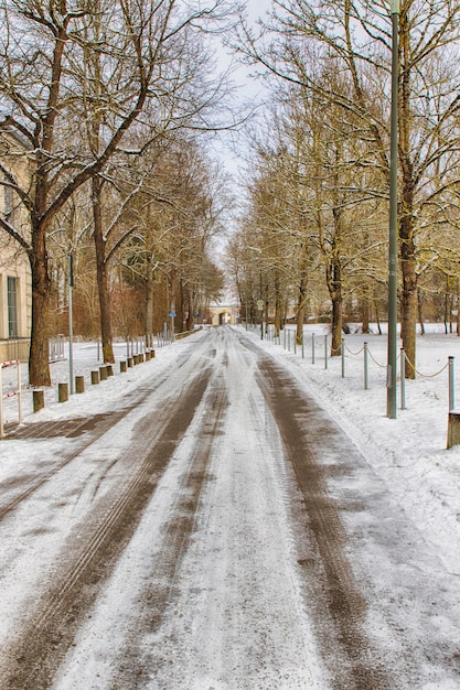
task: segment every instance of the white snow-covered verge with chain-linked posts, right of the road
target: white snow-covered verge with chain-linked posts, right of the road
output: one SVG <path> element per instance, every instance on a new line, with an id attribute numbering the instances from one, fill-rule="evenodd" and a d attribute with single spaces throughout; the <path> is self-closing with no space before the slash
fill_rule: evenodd
<path id="1" fill-rule="evenodd" d="M 397 419 L 386 417 L 385 335 L 345 336 L 345 376 L 342 358 L 329 358 L 324 368 L 322 343 L 327 326 L 306 327 L 304 358 L 281 345 L 260 342 L 281 357 L 310 393 L 346 431 L 396 502 L 439 549 L 448 570 L 460 574 L 460 446 L 447 450 L 449 411 L 448 358 L 460 395 L 460 338 L 445 335 L 441 324 L 417 337 L 418 376 L 406 380 L 406 409 L 400 408 L 398 377 Z M 315 348 L 312 360 L 312 334 Z M 258 333 L 255 333 L 257 337 Z M 293 338 L 292 338 L 293 339 Z M 368 389 L 364 389 L 363 345 L 368 347 Z M 288 346 L 288 342 L 286 344 Z M 459 395 L 457 400 L 460 402 Z"/>

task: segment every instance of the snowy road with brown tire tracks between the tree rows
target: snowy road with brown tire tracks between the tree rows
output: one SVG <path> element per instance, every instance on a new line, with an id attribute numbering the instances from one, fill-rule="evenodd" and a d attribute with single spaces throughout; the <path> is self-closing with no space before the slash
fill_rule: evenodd
<path id="1" fill-rule="evenodd" d="M 1 688 L 460 688 L 457 575 L 244 332 L 60 428 L 0 484 Z"/>

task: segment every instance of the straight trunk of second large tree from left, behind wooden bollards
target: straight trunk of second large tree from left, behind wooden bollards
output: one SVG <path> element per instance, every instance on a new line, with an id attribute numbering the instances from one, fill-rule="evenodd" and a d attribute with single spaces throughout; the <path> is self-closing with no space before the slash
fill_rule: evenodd
<path id="1" fill-rule="evenodd" d="M 103 356 L 106 364 L 113 364 L 114 346 L 111 336 L 111 315 L 110 315 L 110 295 L 108 289 L 108 276 L 106 263 L 106 241 L 103 231 L 103 214 L 100 206 L 101 182 L 96 176 L 92 181 L 93 186 L 93 223 L 94 223 L 94 241 L 96 247 L 96 272 L 97 272 L 97 290 L 99 297 L 100 309 L 100 338 L 103 342 Z"/>

